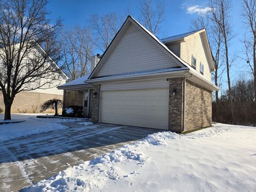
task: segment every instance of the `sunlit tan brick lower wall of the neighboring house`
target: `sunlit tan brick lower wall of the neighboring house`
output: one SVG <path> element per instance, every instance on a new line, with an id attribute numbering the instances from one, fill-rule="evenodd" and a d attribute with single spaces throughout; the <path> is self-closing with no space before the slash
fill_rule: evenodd
<path id="1" fill-rule="evenodd" d="M 62 97 L 63 96 L 59 94 L 22 91 L 15 96 L 11 113 L 39 113 L 40 106 L 44 101 L 53 98 L 62 100 Z M 59 109 L 59 113 L 61 113 L 61 111 L 62 109 Z M 0 92 L 0 113 L 1 112 L 4 113 L 4 99 L 2 92 Z M 45 112 L 55 113 L 53 109 L 46 110 Z"/>

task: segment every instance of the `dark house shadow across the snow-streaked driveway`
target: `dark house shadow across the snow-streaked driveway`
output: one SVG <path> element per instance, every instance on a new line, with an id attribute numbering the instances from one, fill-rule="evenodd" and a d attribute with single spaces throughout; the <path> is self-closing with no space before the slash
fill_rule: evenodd
<path id="1" fill-rule="evenodd" d="M 75 127 L 29 135 L 4 142 L 4 146 L 0 148 L 0 164 L 49 157 L 84 149 L 88 149 L 86 153 L 93 154 L 93 151 L 90 150 L 92 148 L 98 148 L 103 151 L 104 148 L 108 148 L 109 151 L 111 148 L 114 149 L 121 146 L 118 143 L 143 139 L 148 134 L 161 131 L 163 130 L 97 124 L 87 126 L 86 129 Z"/>

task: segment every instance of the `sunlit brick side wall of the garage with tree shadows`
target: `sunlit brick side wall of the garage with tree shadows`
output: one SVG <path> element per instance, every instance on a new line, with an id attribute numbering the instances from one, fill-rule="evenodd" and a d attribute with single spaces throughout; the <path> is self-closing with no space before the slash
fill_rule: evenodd
<path id="1" fill-rule="evenodd" d="M 212 91 L 186 80 L 186 129 L 194 130 L 212 124 Z"/>

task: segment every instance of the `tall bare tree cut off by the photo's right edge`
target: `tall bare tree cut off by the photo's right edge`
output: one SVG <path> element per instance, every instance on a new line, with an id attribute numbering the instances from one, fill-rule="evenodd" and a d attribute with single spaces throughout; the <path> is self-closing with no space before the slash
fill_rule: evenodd
<path id="1" fill-rule="evenodd" d="M 244 46 L 246 62 L 249 64 L 254 77 L 254 100 L 256 102 L 256 0 L 243 0 L 242 16 L 248 27 L 248 31 L 244 35 Z"/>

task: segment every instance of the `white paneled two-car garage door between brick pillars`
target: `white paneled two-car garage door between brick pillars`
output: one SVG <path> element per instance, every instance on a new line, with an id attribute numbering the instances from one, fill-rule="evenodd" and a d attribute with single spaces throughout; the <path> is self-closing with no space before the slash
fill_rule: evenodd
<path id="1" fill-rule="evenodd" d="M 101 92 L 101 122 L 168 129 L 169 89 Z"/>

